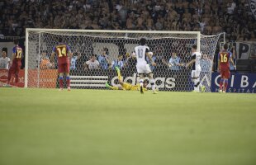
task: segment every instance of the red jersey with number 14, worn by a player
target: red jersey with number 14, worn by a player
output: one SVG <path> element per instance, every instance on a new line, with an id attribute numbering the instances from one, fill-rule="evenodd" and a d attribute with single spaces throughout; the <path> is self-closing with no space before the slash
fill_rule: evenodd
<path id="1" fill-rule="evenodd" d="M 53 49 L 53 52 L 58 56 L 58 64 L 68 64 L 69 63 L 69 46 L 64 43 L 59 43 Z"/>

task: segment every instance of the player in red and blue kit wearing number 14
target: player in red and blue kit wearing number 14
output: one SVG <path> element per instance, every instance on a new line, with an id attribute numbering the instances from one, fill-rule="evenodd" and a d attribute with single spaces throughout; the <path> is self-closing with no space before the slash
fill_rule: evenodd
<path id="1" fill-rule="evenodd" d="M 59 37 L 59 44 L 55 45 L 53 52 L 51 54 L 51 62 L 55 61 L 55 54 L 58 56 L 58 72 L 59 72 L 59 90 L 63 90 L 63 77 L 64 73 L 66 76 L 66 82 L 68 90 L 70 91 L 70 77 L 69 77 L 69 58 L 71 58 L 72 53 L 69 46 L 63 43 L 61 37 Z"/>

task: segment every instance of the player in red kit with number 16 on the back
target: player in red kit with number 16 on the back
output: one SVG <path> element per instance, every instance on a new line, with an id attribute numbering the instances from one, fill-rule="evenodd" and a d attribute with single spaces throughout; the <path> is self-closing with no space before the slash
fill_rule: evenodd
<path id="1" fill-rule="evenodd" d="M 228 87 L 228 80 L 230 78 L 230 62 L 234 64 L 233 59 L 231 58 L 232 54 L 228 51 L 228 45 L 224 45 L 224 50 L 220 51 L 218 54 L 218 70 L 220 71 L 220 91 L 225 92 L 226 87 Z"/>

